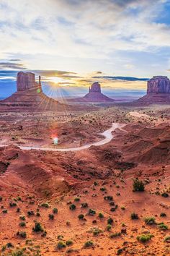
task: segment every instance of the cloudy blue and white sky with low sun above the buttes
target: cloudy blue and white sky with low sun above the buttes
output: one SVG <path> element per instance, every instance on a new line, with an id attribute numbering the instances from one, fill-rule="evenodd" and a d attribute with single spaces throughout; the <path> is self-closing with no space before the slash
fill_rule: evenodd
<path id="1" fill-rule="evenodd" d="M 0 38 L 0 98 L 19 71 L 55 95 L 95 81 L 105 93 L 145 93 L 146 79 L 170 76 L 170 0 L 0 0 Z"/>

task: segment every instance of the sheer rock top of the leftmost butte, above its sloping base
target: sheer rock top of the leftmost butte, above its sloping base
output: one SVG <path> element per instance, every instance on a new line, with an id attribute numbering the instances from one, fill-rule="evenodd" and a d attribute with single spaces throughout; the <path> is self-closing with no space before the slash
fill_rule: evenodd
<path id="1" fill-rule="evenodd" d="M 39 82 L 35 81 L 35 74 L 31 72 L 19 72 L 17 74 L 17 91 L 24 90 L 42 90 L 41 81 L 39 76 Z"/>

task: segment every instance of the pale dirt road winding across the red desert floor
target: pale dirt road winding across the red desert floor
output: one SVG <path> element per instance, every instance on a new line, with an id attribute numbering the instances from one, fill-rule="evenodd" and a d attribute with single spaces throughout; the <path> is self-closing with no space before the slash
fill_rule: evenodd
<path id="1" fill-rule="evenodd" d="M 43 150 L 43 151 L 59 151 L 59 152 L 79 151 L 79 150 L 90 148 L 91 146 L 101 146 L 101 145 L 107 144 L 114 137 L 114 135 L 112 135 L 112 132 L 115 131 L 115 129 L 117 128 L 122 129 L 122 127 L 124 126 L 125 124 L 113 123 L 111 128 L 107 129 L 102 133 L 99 133 L 99 135 L 102 135 L 105 137 L 103 140 L 100 140 L 99 142 L 86 144 L 84 146 L 76 147 L 76 148 L 41 148 L 41 147 L 29 147 L 29 146 L 21 146 L 21 145 L 17 145 L 17 147 L 19 147 L 22 150 Z M 8 145 L 0 145 L 0 147 L 6 147 L 6 146 Z"/>

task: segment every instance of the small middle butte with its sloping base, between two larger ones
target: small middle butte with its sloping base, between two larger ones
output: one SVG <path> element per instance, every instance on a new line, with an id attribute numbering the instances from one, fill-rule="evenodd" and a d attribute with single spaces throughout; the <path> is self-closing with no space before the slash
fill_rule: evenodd
<path id="1" fill-rule="evenodd" d="M 99 82 L 94 82 L 91 87 L 89 87 L 89 93 L 87 93 L 82 98 L 74 98 L 70 101 L 77 102 L 113 102 L 112 98 L 107 97 L 103 93 L 101 93 L 101 85 Z"/>

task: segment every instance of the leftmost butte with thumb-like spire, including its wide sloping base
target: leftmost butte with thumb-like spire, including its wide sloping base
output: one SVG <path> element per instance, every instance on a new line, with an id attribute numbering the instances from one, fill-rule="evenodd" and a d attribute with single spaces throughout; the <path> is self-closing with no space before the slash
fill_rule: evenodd
<path id="1" fill-rule="evenodd" d="M 70 106 L 61 104 L 42 93 L 41 78 L 35 81 L 35 74 L 17 74 L 17 92 L 0 101 L 1 111 L 63 111 Z"/>

